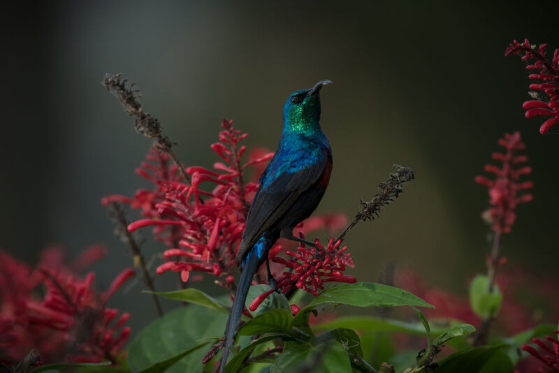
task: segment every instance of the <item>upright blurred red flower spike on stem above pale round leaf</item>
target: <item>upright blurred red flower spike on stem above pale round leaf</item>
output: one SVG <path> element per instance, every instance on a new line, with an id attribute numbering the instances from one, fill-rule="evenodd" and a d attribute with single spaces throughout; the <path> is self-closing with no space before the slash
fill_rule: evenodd
<path id="1" fill-rule="evenodd" d="M 534 184 L 532 182 L 518 182 L 518 178 L 522 175 L 532 173 L 532 168 L 518 166 L 520 163 L 528 161 L 526 156 L 516 154 L 516 152 L 525 148 L 520 132 L 505 133 L 504 138 L 499 139 L 498 143 L 504 147 L 506 153 L 493 153 L 493 159 L 501 161 L 502 168 L 493 165 L 485 166 L 486 171 L 495 174 L 495 180 L 477 176 L 475 181 L 489 189 L 489 203 L 492 207 L 484 212 L 482 217 L 491 223 L 493 231 L 509 233 L 516 219 L 514 213 L 516 205 L 532 200 L 532 194 L 519 195 L 518 191 L 530 189 Z"/>

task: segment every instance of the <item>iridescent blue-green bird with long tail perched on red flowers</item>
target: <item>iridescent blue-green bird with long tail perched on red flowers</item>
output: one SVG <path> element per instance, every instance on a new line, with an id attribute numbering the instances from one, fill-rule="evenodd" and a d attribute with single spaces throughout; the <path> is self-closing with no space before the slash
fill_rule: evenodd
<path id="1" fill-rule="evenodd" d="M 235 260 L 242 273 L 226 328 L 225 348 L 219 372 L 227 356 L 247 299 L 252 277 L 266 261 L 268 284 L 275 289 L 268 251 L 279 237 L 315 246 L 293 236 L 293 228 L 310 217 L 324 196 L 332 172 L 332 151 L 320 127 L 319 92 L 331 80 L 321 80 L 310 89 L 293 92 L 283 110 L 284 128 L 279 146 L 266 170 L 247 214 Z"/>

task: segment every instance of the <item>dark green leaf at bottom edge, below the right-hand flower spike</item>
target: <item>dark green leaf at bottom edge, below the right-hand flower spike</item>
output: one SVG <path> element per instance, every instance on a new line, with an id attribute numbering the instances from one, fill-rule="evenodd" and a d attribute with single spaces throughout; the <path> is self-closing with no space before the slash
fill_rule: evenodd
<path id="1" fill-rule="evenodd" d="M 507 349 L 507 347 L 507 344 L 468 347 L 442 360 L 439 363 L 439 367 L 433 372 L 511 373 L 513 371 L 511 361 L 507 357 L 507 354 L 504 353 L 504 349 Z"/>

